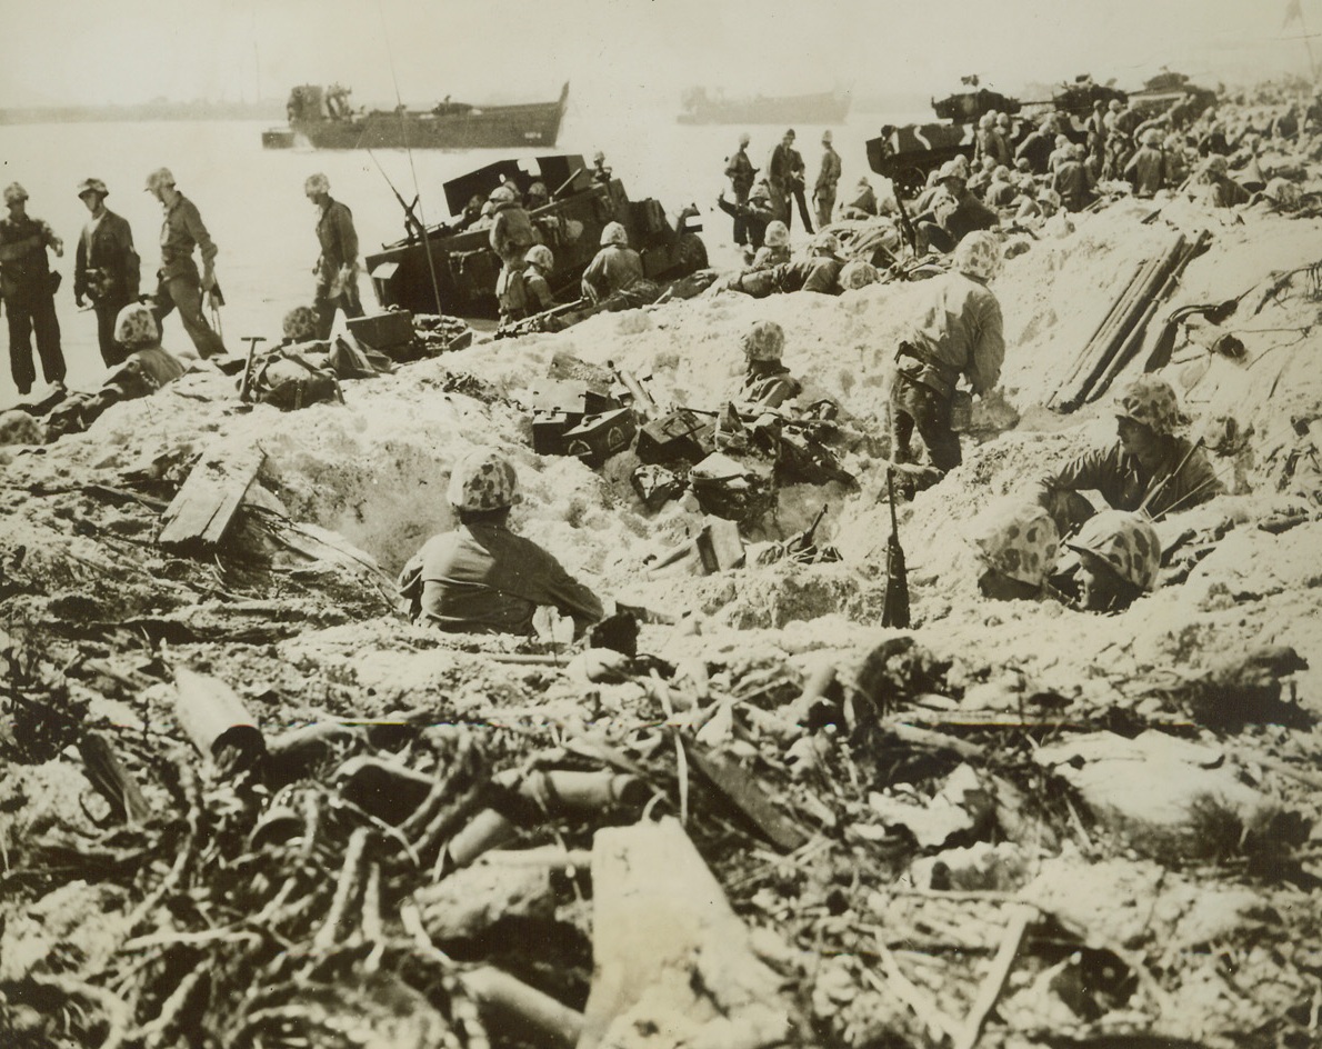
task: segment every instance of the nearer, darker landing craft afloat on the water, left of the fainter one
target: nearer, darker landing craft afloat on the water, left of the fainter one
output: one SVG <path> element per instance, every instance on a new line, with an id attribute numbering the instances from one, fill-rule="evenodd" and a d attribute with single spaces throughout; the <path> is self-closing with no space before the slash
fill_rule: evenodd
<path id="1" fill-rule="evenodd" d="M 317 149 L 475 149 L 555 146 L 570 86 L 555 102 L 475 106 L 444 102 L 431 110 L 356 112 L 349 89 L 300 85 L 286 106 L 288 127 L 262 132 L 262 144 L 283 149 L 304 142 Z"/>

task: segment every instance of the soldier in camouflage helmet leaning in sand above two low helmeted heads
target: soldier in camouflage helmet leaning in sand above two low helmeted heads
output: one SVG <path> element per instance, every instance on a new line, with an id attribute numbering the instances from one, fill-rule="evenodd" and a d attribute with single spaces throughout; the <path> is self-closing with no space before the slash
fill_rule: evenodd
<path id="1" fill-rule="evenodd" d="M 1199 448 L 1175 434 L 1179 402 L 1159 376 L 1140 376 L 1116 396 L 1118 441 L 1087 451 L 1038 482 L 1038 501 L 1068 534 L 1092 513 L 1079 492 L 1097 491 L 1114 509 L 1153 517 L 1188 509 L 1224 491 Z"/>

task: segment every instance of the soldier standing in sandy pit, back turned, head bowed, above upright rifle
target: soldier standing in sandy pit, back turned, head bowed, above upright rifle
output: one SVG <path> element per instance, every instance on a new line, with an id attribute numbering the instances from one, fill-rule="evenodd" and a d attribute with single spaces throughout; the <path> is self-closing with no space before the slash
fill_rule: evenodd
<path id="1" fill-rule="evenodd" d="M 910 442 L 916 430 L 932 467 L 943 475 L 962 459 L 951 426 L 956 384 L 964 376 L 972 392 L 989 393 L 1005 360 L 1001 303 L 988 288 L 1001 266 L 999 243 L 990 233 L 970 233 L 954 249 L 954 270 L 927 282 L 927 302 L 895 353 L 891 386 L 891 458 L 915 462 Z"/>

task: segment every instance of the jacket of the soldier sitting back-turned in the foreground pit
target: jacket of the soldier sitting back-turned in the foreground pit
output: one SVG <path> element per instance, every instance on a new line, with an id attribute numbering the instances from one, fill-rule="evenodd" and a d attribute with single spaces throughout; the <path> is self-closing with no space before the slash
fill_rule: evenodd
<path id="1" fill-rule="evenodd" d="M 602 602 L 531 540 L 489 521 L 428 540 L 399 575 L 414 618 L 460 634 L 533 634 L 538 605 L 570 615 L 578 632 Z"/>

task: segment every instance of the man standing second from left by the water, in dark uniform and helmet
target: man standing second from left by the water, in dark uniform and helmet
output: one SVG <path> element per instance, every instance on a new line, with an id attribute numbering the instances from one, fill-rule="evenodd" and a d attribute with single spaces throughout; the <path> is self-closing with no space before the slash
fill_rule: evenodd
<path id="1" fill-rule="evenodd" d="M 137 299 L 140 259 L 134 249 L 128 221 L 106 208 L 110 190 L 100 179 L 83 179 L 78 198 L 91 218 L 78 237 L 74 253 L 74 303 L 91 299 L 97 312 L 97 341 L 107 368 L 122 364 L 128 349 L 115 341 L 119 311 Z"/>

